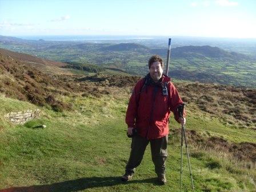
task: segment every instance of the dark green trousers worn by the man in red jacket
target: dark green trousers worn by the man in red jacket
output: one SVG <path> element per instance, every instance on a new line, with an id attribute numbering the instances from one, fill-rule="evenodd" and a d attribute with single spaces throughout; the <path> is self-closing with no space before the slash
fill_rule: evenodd
<path id="1" fill-rule="evenodd" d="M 165 174 L 165 162 L 167 158 L 168 135 L 159 139 L 147 140 L 139 135 L 131 141 L 131 153 L 125 167 L 126 173 L 134 173 L 135 168 L 141 164 L 147 145 L 150 143 L 151 157 L 155 165 L 157 175 Z"/>

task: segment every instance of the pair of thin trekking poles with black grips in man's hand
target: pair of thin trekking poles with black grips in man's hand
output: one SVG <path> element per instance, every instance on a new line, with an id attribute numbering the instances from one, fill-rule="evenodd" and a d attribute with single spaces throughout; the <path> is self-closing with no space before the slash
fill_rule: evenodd
<path id="1" fill-rule="evenodd" d="M 184 106 L 185 103 L 182 103 L 181 105 L 178 106 L 178 114 L 181 119 L 183 119 L 183 111 L 184 111 Z M 185 146 L 187 150 L 187 159 L 189 161 L 189 172 L 190 172 L 190 179 L 191 179 L 191 185 L 192 189 L 194 191 L 194 183 L 193 183 L 193 177 L 192 177 L 192 172 L 191 172 L 191 166 L 190 166 L 190 158 L 189 158 L 189 148 L 187 147 L 187 139 L 186 139 L 186 134 L 185 134 L 185 126 L 181 126 L 181 183 L 180 183 L 180 191 L 182 189 L 182 150 L 183 150 L 183 137 L 185 140 Z"/>

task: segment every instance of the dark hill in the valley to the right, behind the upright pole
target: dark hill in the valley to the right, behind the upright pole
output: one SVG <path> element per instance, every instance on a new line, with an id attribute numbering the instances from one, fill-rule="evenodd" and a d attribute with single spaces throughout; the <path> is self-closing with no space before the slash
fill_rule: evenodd
<path id="1" fill-rule="evenodd" d="M 153 54 L 166 55 L 166 49 L 151 49 Z M 225 51 L 219 47 L 211 46 L 182 46 L 171 49 L 171 58 L 214 58 L 228 60 L 252 59 L 250 56 L 235 52 Z"/>

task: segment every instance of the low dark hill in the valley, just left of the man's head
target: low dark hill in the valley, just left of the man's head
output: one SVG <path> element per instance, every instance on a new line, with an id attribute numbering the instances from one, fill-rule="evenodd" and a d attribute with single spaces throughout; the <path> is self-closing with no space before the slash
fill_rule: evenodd
<path id="1" fill-rule="evenodd" d="M 145 51 L 149 50 L 149 47 L 138 43 L 119 43 L 116 45 L 110 45 L 103 47 L 101 50 L 105 51 Z"/>

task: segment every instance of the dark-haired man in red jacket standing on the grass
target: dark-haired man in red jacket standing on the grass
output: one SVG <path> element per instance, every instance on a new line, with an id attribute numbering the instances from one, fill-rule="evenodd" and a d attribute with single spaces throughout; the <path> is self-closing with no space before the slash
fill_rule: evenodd
<path id="1" fill-rule="evenodd" d="M 126 111 L 127 135 L 133 135 L 133 138 L 122 181 L 133 177 L 135 167 L 141 163 L 146 146 L 150 143 L 158 181 L 162 185 L 166 183 L 169 117 L 173 111 L 176 121 L 183 125 L 186 123 L 185 118 L 178 117 L 177 107 L 182 103 L 170 78 L 163 74 L 163 59 L 153 55 L 149 59 L 149 74 L 136 83 Z"/>

